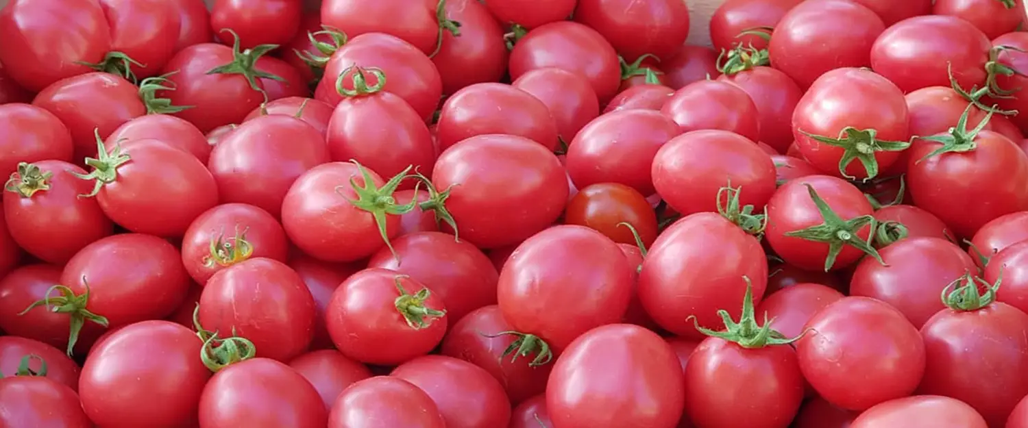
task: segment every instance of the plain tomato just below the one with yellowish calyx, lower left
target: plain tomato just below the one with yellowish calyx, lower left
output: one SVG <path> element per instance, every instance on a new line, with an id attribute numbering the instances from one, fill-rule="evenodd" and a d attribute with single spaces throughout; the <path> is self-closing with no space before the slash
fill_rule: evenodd
<path id="1" fill-rule="evenodd" d="M 257 355 L 289 361 L 314 337 L 315 301 L 303 279 L 286 264 L 250 259 L 211 276 L 199 299 L 205 329 L 249 339 Z"/>

